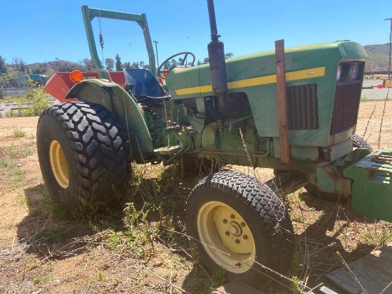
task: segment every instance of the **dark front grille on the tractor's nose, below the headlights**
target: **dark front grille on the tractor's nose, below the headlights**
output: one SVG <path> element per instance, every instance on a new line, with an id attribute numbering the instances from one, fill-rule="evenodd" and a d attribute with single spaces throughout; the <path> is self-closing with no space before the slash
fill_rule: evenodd
<path id="1" fill-rule="evenodd" d="M 361 83 L 336 85 L 330 135 L 356 125 L 360 99 Z"/>

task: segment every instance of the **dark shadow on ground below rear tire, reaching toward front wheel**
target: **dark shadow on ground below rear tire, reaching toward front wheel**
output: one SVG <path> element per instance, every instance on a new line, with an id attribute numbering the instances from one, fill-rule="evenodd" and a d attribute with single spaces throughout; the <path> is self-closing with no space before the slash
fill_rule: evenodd
<path id="1" fill-rule="evenodd" d="M 169 246 L 170 243 L 184 243 L 186 237 L 173 236 L 170 232 L 184 231 L 187 195 L 198 179 L 197 175 L 184 179 L 178 172 L 178 168 L 166 167 L 156 177 L 142 177 L 137 187 L 130 184 L 129 189 L 137 191 L 119 196 L 115 205 L 103 211 L 78 216 L 77 219 L 68 218 L 63 207 L 53 203 L 44 184 L 25 189 L 24 201 L 29 214 L 18 224 L 19 243 L 26 245 L 27 253 L 39 257 L 61 259 L 73 256 L 73 252 L 81 254 L 88 251 L 86 238 L 96 241 L 104 231 L 127 233 L 123 209 L 128 203 L 132 203 L 136 211 L 148 213 L 144 221 L 163 224 L 161 233 L 164 239 L 172 238 L 171 242 L 167 241 Z M 135 223 L 138 221 L 140 219 L 135 219 Z M 105 243 L 107 240 L 99 241 Z"/>

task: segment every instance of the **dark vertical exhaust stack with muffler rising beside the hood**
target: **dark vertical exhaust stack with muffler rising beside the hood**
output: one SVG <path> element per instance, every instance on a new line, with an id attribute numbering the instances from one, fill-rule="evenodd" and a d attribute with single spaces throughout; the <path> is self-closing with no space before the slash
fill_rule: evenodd
<path id="1" fill-rule="evenodd" d="M 211 42 L 208 44 L 208 58 L 210 59 L 210 73 L 212 91 L 217 95 L 220 108 L 225 108 L 224 99 L 227 93 L 227 75 L 225 63 L 225 48 L 217 31 L 217 21 L 215 19 L 214 0 L 207 0 L 208 15 L 210 17 Z"/>

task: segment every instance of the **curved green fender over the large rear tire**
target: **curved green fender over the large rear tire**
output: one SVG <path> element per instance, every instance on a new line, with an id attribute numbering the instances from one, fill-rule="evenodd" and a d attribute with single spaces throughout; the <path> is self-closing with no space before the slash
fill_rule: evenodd
<path id="1" fill-rule="evenodd" d="M 82 80 L 66 95 L 66 99 L 72 98 L 97 103 L 108 108 L 128 132 L 136 159 L 140 159 L 143 153 L 154 152 L 153 141 L 145 124 L 143 110 L 138 107 L 135 98 L 120 85 L 100 79 Z M 138 150 L 140 152 L 137 152 Z"/>

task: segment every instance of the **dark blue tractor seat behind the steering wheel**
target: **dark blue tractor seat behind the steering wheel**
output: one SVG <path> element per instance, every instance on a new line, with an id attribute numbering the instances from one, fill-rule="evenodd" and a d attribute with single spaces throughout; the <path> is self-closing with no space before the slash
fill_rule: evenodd
<path id="1" fill-rule="evenodd" d="M 167 98 L 167 93 L 150 70 L 124 69 L 126 89 L 136 98 Z"/>

